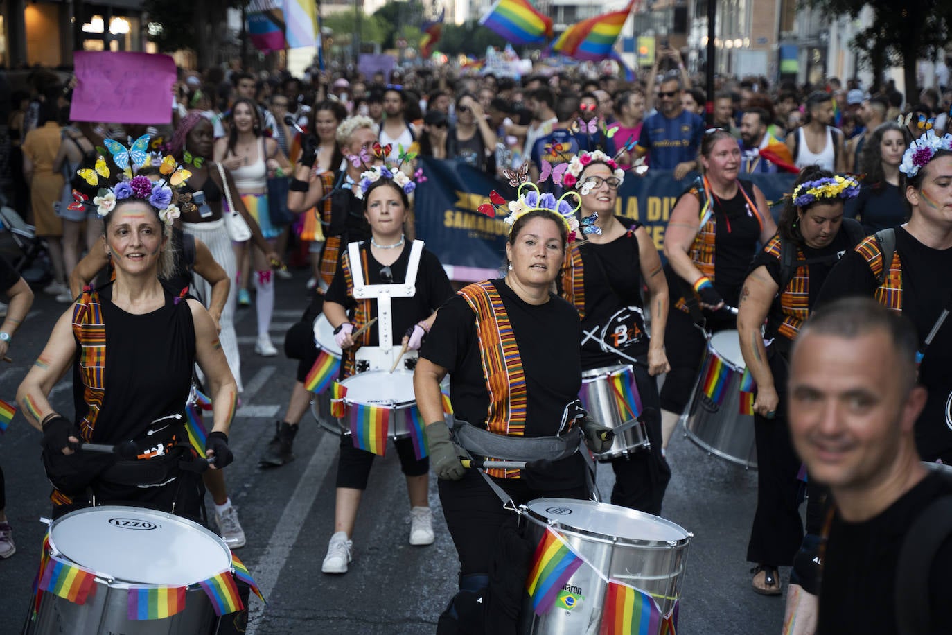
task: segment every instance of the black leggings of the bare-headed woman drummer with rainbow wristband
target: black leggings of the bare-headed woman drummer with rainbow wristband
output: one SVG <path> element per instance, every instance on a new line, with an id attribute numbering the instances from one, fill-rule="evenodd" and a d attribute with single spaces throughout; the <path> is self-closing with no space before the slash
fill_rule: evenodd
<path id="1" fill-rule="evenodd" d="M 727 328 L 737 328 L 737 318 L 725 311 L 712 314 L 704 312 L 705 327 L 711 333 Z M 672 307 L 667 312 L 664 327 L 664 351 L 671 365 L 661 389 L 661 407 L 681 414 L 691 398 L 691 389 L 698 379 L 701 358 L 704 357 L 706 340 L 701 329 L 694 326 L 691 316 Z"/>

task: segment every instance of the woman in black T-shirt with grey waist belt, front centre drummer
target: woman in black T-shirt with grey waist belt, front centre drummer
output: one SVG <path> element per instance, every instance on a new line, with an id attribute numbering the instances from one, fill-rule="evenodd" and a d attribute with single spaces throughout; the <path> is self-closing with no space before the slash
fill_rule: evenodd
<path id="1" fill-rule="evenodd" d="M 587 419 L 576 423 L 584 415 L 577 401 L 579 314 L 551 292 L 569 235 L 579 227 L 574 194 L 557 201 L 526 184 L 509 210 L 506 277 L 469 285 L 440 308 L 413 378 L 460 560 L 460 590 L 440 616 L 441 635 L 484 632 L 484 623 L 485 632 L 515 632 L 506 624 L 514 613 L 503 606 L 518 612 L 522 604 L 532 546 L 516 535 L 519 516 L 504 502 L 586 498 L 579 429 L 596 451 L 603 443 L 598 435 L 607 429 Z M 452 439 L 440 395 L 447 373 L 456 417 Z M 461 454 L 551 463 L 483 471 L 464 468 Z M 499 575 L 490 580 L 492 571 Z"/>

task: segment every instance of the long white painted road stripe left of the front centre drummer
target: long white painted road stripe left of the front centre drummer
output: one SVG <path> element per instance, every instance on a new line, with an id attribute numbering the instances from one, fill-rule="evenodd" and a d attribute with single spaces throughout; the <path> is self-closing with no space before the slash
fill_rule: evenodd
<path id="1" fill-rule="evenodd" d="M 250 567 L 254 571 L 254 580 L 258 583 L 261 594 L 266 598 L 277 585 L 281 570 L 288 562 L 291 548 L 297 543 L 298 536 L 306 526 L 310 508 L 314 505 L 320 490 L 320 487 L 315 487 L 314 484 L 323 481 L 327 470 L 335 465 L 334 456 L 340 446 L 340 438 L 333 434 L 324 434 L 322 437 L 321 443 L 314 449 L 314 454 L 307 462 L 307 468 L 301 475 L 301 480 L 294 487 L 294 492 L 288 499 L 288 505 L 285 506 L 281 518 L 278 519 L 274 531 L 268 538 L 268 548 L 261 554 L 258 562 Z M 320 555 L 318 557 L 320 558 Z M 246 631 L 248 635 L 258 632 L 255 617 L 259 616 L 264 609 L 265 605 L 261 602 L 255 602 L 248 608 L 248 630 Z"/>

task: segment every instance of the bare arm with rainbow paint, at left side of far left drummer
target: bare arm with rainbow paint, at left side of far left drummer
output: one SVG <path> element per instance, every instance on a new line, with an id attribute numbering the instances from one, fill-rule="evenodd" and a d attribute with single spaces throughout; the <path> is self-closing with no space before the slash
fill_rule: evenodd
<path id="1" fill-rule="evenodd" d="M 76 354 L 76 340 L 72 335 L 72 307 L 67 309 L 53 327 L 50 341 L 30 368 L 27 377 L 16 391 L 16 401 L 30 426 L 42 430 L 42 422 L 54 414 L 47 397 L 50 390 L 69 370 Z M 76 440 L 78 441 L 78 439 Z"/>

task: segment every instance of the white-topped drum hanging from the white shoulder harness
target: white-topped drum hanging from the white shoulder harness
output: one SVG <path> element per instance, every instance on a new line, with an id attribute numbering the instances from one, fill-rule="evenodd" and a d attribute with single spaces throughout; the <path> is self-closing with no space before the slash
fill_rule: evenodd
<path id="1" fill-rule="evenodd" d="M 341 422 L 341 429 L 349 432 L 356 425 L 363 410 L 388 410 L 387 436 L 391 439 L 408 437 L 408 417 L 416 410 L 416 397 L 413 393 L 413 373 L 408 370 L 368 370 L 347 377 L 341 386 L 347 388 L 344 403 L 347 405 L 347 417 Z M 419 416 L 419 415 L 417 415 Z"/>

